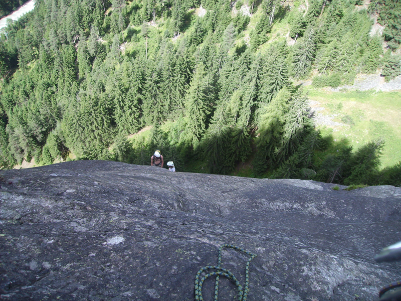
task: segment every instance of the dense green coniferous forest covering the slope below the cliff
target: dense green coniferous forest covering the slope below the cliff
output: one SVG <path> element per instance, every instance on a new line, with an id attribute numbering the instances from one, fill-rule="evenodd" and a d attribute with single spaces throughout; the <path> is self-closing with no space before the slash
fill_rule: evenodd
<path id="1" fill-rule="evenodd" d="M 401 186 L 385 141 L 322 136 L 299 84 L 401 74 L 400 16 L 395 0 L 37 0 L 0 36 L 0 166 L 160 149 L 177 171 Z"/>

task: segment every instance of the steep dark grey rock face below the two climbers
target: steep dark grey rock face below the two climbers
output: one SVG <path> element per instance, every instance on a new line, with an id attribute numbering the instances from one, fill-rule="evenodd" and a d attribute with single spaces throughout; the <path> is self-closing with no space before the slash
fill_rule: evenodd
<path id="1" fill-rule="evenodd" d="M 197 271 L 230 243 L 257 254 L 248 300 L 375 300 L 401 265 L 401 189 L 170 173 L 105 161 L 3 172 L 0 299 L 193 300 Z M 222 267 L 244 286 L 249 256 Z M 213 277 L 211 277 L 213 278 Z M 203 287 L 212 300 L 214 280 Z M 219 300 L 236 299 L 221 278 Z"/>

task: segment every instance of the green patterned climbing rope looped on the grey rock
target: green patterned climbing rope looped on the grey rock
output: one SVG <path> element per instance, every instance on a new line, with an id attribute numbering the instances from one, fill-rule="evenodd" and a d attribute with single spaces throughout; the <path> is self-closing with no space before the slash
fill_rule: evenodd
<path id="1" fill-rule="evenodd" d="M 245 286 L 244 289 L 242 288 L 240 282 L 237 280 L 237 278 L 227 269 L 222 268 L 222 250 L 224 247 L 227 248 L 233 248 L 236 250 L 239 250 L 241 252 L 244 252 L 245 254 L 248 254 L 249 256 L 251 256 L 248 261 L 247 261 L 247 265 L 245 267 Z M 235 282 L 235 284 L 237 285 L 237 289 L 238 289 L 238 301 L 246 301 L 247 300 L 247 296 L 248 296 L 248 285 L 249 285 L 249 264 L 251 263 L 251 260 L 254 259 L 257 255 L 253 254 L 247 250 L 244 250 L 243 248 L 240 247 L 236 247 L 230 244 L 224 244 L 219 248 L 219 258 L 218 258 L 218 263 L 216 266 L 205 266 L 203 268 L 201 268 L 197 273 L 196 273 L 196 277 L 195 277 L 195 300 L 196 301 L 204 301 L 204 298 L 202 297 L 202 285 L 205 282 L 206 279 L 208 279 L 210 276 L 214 276 L 216 275 L 216 284 L 215 284 L 215 299 L 214 301 L 218 301 L 218 295 L 219 295 L 219 279 L 220 276 L 225 276 L 227 278 L 229 278 L 230 280 L 232 280 L 233 282 Z M 209 269 L 215 269 L 217 271 L 215 272 L 210 272 L 208 274 L 206 274 L 205 276 L 203 276 L 200 280 L 200 274 L 206 270 Z"/>

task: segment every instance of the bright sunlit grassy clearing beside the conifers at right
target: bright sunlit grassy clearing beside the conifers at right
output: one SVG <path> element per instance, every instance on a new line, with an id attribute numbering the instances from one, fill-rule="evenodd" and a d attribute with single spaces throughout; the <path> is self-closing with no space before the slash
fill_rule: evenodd
<path id="1" fill-rule="evenodd" d="M 356 150 L 365 143 L 383 138 L 381 167 L 401 161 L 401 92 L 340 91 L 310 88 L 312 109 L 333 121 L 316 124 L 323 134 L 346 138 Z"/>

